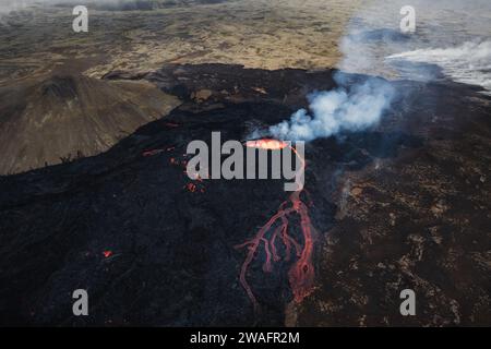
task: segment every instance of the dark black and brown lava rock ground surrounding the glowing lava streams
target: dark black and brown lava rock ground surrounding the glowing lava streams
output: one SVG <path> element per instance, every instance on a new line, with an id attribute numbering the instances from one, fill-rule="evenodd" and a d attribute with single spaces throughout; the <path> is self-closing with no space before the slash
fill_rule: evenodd
<path id="1" fill-rule="evenodd" d="M 255 262 L 253 313 L 235 245 L 275 213 L 283 182 L 190 191 L 183 154 L 212 131 L 244 140 L 287 119 L 332 75 L 220 64 L 106 75 L 183 104 L 104 154 L 0 178 L 0 324 L 489 326 L 491 100 L 451 82 L 393 82 L 378 128 L 308 144 L 316 288 L 295 304 L 288 263 L 264 274 Z M 71 313 L 77 288 L 91 294 L 85 318 Z M 404 288 L 417 316 L 399 314 Z"/>

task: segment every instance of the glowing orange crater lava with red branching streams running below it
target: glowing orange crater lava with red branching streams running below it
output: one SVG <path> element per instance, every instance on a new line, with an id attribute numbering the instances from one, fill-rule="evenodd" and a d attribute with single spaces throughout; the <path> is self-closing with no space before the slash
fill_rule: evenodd
<path id="1" fill-rule="evenodd" d="M 277 140 L 256 140 L 247 142 L 246 146 L 271 151 L 278 151 L 289 147 L 300 159 L 301 168 L 299 170 L 304 173 L 306 160 L 289 143 Z M 250 264 L 254 257 L 258 256 L 258 249 L 260 249 L 261 245 L 264 245 L 264 252 L 266 255 L 266 261 L 263 264 L 263 270 L 265 273 L 271 273 L 273 270 L 272 260 L 273 262 L 278 262 L 282 260 L 277 249 L 277 240 L 280 239 L 284 245 L 284 261 L 289 261 L 292 252 L 291 250 L 292 248 L 295 249 L 298 260 L 288 272 L 288 279 L 296 302 L 301 302 L 303 298 L 309 296 L 313 290 L 314 269 L 312 265 L 312 225 L 309 217 L 308 205 L 303 203 L 300 197 L 303 192 L 303 185 L 299 185 L 299 188 L 301 189 L 291 193 L 289 198 L 279 205 L 276 214 L 272 216 L 270 220 L 256 232 L 253 239 L 237 246 L 238 249 L 248 246 L 249 250 L 246 261 L 241 267 L 240 282 L 246 289 L 246 292 L 251 299 L 256 312 L 260 310 L 259 303 L 250 285 L 248 284 L 246 276 Z M 300 229 L 303 237 L 303 246 L 288 233 L 288 217 L 292 214 L 297 214 L 300 217 Z M 276 227 L 273 229 L 275 225 Z"/>

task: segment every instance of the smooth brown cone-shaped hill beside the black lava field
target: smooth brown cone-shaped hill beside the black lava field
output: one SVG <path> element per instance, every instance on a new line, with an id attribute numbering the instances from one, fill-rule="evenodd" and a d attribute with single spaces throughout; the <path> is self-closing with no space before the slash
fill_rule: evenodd
<path id="1" fill-rule="evenodd" d="M 149 83 L 70 73 L 3 87 L 0 99 L 0 174 L 98 154 L 179 104 Z"/>

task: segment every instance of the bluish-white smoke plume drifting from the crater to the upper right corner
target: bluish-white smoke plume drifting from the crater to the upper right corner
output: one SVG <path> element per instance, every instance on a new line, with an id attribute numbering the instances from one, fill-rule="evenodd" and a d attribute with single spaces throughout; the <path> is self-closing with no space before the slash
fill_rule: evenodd
<path id="1" fill-rule="evenodd" d="M 491 92 L 491 2 L 414 0 L 414 34 L 399 28 L 400 9 L 406 4 L 406 0 L 374 0 L 362 5 L 339 41 L 343 59 L 337 68 L 419 81 L 441 79 L 443 73 Z M 439 65 L 441 73 L 430 64 Z M 298 110 L 289 120 L 271 127 L 268 133 L 283 140 L 312 141 L 375 127 L 395 97 L 391 83 L 367 77 L 349 85 L 339 76 L 338 88 L 311 94 L 309 110 Z"/>

